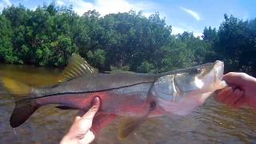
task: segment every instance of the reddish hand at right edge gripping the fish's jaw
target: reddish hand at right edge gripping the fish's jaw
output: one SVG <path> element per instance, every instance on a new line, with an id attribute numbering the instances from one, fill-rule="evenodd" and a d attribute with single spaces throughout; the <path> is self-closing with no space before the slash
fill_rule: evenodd
<path id="1" fill-rule="evenodd" d="M 245 73 L 230 72 L 222 78 L 228 87 L 220 90 L 216 100 L 234 108 L 251 106 L 256 109 L 256 78 Z"/>

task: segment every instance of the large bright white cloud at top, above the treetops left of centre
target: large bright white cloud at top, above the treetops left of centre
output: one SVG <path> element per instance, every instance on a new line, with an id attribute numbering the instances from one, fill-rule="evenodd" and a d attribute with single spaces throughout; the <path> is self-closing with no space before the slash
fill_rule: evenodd
<path id="1" fill-rule="evenodd" d="M 127 0 L 95 0 L 94 2 L 85 2 L 83 0 L 57 0 L 59 6 L 72 5 L 73 9 L 79 15 L 88 10 L 97 10 L 101 16 L 110 13 L 127 12 L 129 10 L 142 10 L 146 15 L 154 13 L 154 4 L 150 2 L 131 3 Z"/>

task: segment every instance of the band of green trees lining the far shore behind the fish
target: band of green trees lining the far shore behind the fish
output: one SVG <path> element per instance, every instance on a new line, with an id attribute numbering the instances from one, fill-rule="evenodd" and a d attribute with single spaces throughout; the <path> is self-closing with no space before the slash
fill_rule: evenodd
<path id="1" fill-rule="evenodd" d="M 218 59 L 226 71 L 256 75 L 256 18 L 224 14 L 221 25 L 206 27 L 202 38 L 171 31 L 158 13 L 100 17 L 95 10 L 79 16 L 72 6 L 54 3 L 36 10 L 9 6 L 0 14 L 0 62 L 63 67 L 76 52 L 99 71 L 159 73 Z"/>

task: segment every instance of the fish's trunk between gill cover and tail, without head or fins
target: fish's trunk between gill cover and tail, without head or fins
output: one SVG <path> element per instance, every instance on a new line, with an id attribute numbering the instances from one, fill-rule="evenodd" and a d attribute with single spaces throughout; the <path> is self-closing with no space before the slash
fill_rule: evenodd
<path id="1" fill-rule="evenodd" d="M 87 110 L 94 97 L 101 101 L 101 112 L 121 116 L 142 116 L 150 106 L 150 86 L 154 75 L 148 74 L 97 74 L 74 78 L 58 86 L 34 89 L 38 105 L 60 104 Z"/>

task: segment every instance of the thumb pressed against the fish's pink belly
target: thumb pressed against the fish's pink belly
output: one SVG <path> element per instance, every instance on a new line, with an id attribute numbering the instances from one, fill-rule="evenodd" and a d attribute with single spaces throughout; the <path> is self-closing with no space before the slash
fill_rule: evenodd
<path id="1" fill-rule="evenodd" d="M 99 107 L 100 107 L 100 99 L 96 97 L 94 98 L 93 106 L 90 108 L 90 110 L 86 112 L 86 114 L 82 116 L 82 119 L 93 119 L 95 114 L 98 112 Z"/>

